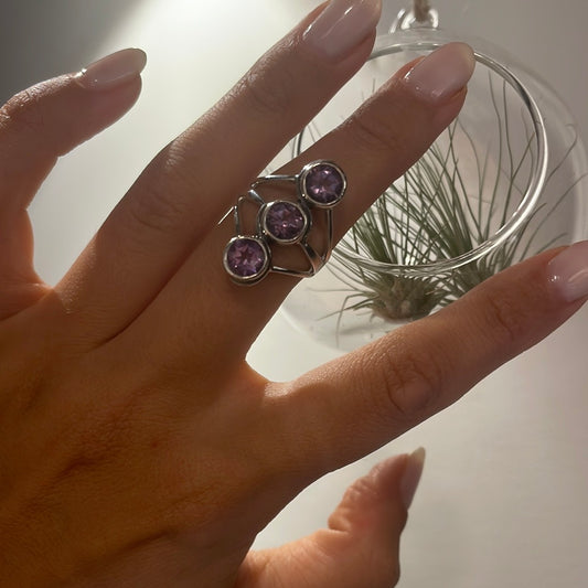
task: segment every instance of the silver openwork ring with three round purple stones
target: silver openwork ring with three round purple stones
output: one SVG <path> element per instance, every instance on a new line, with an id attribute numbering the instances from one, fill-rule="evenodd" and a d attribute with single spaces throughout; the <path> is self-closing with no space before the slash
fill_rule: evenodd
<path id="1" fill-rule="evenodd" d="M 257 189 L 264 184 L 290 182 L 295 184 L 295 200 L 266 201 Z M 263 175 L 239 196 L 229 211 L 235 221 L 235 236 L 223 254 L 223 265 L 229 278 L 239 285 L 253 285 L 270 271 L 299 278 L 310 278 L 329 260 L 333 243 L 332 209 L 336 206 L 348 188 L 343 170 L 332 161 L 313 161 L 296 175 Z M 245 203 L 257 207 L 255 229 L 244 231 L 242 207 Z M 323 245 L 310 244 L 313 214 L 324 214 Z M 314 239 L 316 240 L 316 239 Z M 308 266 L 302 269 L 280 267 L 274 264 L 274 246 L 297 246 Z"/>

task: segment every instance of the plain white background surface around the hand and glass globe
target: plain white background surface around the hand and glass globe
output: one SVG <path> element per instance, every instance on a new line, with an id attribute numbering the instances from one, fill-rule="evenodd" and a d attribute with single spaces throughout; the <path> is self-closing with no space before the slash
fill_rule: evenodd
<path id="1" fill-rule="evenodd" d="M 56 280 L 147 161 L 314 4 L 145 0 L 115 30 L 104 31 L 99 51 L 81 54 L 79 66 L 122 46 L 141 46 L 149 54 L 143 95 L 124 121 L 65 158 L 35 201 L 41 274 Z M 399 6 L 389 2 L 387 13 Z M 504 45 L 539 71 L 570 106 L 586 141 L 584 0 L 438 0 L 435 6 L 452 29 Z M 562 17 L 562 9 L 569 12 Z M 94 2 L 77 18 L 92 19 L 99 10 Z M 63 22 L 68 18 L 63 14 Z M 53 43 L 57 51 L 57 33 Z M 51 53 L 51 46 L 46 51 Z M 39 63 L 43 57 L 38 56 Z M 377 455 L 319 481 L 259 536 L 258 545 L 313 531 L 324 524 L 345 485 L 373 462 L 425 446 L 428 462 L 404 536 L 399 586 L 586 586 L 587 324 L 585 308 L 455 407 Z M 278 316 L 250 360 L 265 375 L 286 379 L 333 355 L 291 332 Z"/>

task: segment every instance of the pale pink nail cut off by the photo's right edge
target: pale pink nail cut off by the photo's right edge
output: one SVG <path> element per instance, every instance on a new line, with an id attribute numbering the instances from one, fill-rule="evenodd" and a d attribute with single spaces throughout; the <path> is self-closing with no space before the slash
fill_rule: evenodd
<path id="1" fill-rule="evenodd" d="M 554 257 L 547 269 L 549 281 L 566 302 L 575 302 L 588 296 L 588 240 L 564 249 Z"/>

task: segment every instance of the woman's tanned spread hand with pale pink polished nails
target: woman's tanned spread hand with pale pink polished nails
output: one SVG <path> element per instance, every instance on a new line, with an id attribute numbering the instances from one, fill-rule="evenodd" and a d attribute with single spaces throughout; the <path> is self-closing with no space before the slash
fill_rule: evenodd
<path id="1" fill-rule="evenodd" d="M 247 552 L 313 480 L 448 406 L 585 301 L 579 244 L 295 382 L 247 366 L 296 280 L 231 282 L 234 227 L 218 218 L 363 64 L 378 15 L 377 0 L 309 14 L 159 153 L 54 288 L 33 269 L 26 206 L 58 156 L 132 105 L 145 56 L 111 55 L 0 110 L 2 586 L 388 587 L 421 452 L 357 481 L 328 530 Z M 408 64 L 286 167 L 345 170 L 335 237 L 457 116 L 472 70 L 461 44 Z"/>

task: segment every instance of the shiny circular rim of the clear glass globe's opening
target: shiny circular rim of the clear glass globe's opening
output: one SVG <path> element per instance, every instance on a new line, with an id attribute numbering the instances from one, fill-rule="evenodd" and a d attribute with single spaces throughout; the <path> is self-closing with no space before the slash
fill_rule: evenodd
<path id="1" fill-rule="evenodd" d="M 432 35 L 428 36 L 426 32 L 426 30 L 419 29 L 415 31 L 403 31 L 402 33 L 395 32 L 378 36 L 375 49 L 372 52 L 368 62 L 376 57 L 392 55 L 402 51 L 434 51 L 446 44 L 447 40 L 435 39 Z M 435 34 L 435 36 L 438 36 L 440 31 L 434 29 L 431 32 Z M 345 256 L 352 258 L 359 266 L 377 271 L 411 275 L 415 277 L 448 272 L 480 259 L 484 255 L 502 245 L 522 227 L 525 221 L 527 221 L 530 215 L 533 213 L 547 178 L 548 143 L 544 118 L 533 96 L 513 72 L 490 55 L 478 51 L 475 47 L 473 47 L 473 52 L 477 62 L 492 70 L 514 89 L 514 92 L 523 100 L 523 104 L 526 106 L 531 117 L 533 129 L 535 131 L 534 142 L 537 149 L 537 157 L 533 162 L 531 181 L 525 190 L 521 203 L 506 223 L 480 245 L 457 257 L 438 259 L 428 264 L 405 265 L 376 261 L 375 259 L 370 259 L 357 254 L 357 252 L 350 249 L 343 244 L 339 244 L 338 249 L 343 252 Z"/>

